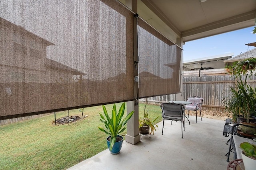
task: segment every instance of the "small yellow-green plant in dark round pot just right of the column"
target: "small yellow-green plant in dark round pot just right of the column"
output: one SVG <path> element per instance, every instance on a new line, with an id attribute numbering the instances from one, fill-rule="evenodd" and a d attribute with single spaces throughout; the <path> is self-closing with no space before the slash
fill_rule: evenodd
<path id="1" fill-rule="evenodd" d="M 148 111 L 146 111 L 146 106 L 147 104 L 144 107 L 143 118 L 140 117 L 139 119 L 139 133 L 142 135 L 148 135 L 152 133 L 154 135 L 154 131 L 156 131 L 156 127 L 158 129 L 158 125 L 155 124 L 155 121 L 158 117 L 156 117 L 156 119 L 151 121 L 148 115 Z"/>

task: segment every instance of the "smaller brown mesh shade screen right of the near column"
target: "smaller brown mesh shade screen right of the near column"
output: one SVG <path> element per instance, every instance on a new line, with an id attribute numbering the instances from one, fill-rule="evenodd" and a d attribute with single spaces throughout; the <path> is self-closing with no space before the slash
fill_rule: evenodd
<path id="1" fill-rule="evenodd" d="M 139 18 L 139 98 L 180 93 L 181 51 Z"/>

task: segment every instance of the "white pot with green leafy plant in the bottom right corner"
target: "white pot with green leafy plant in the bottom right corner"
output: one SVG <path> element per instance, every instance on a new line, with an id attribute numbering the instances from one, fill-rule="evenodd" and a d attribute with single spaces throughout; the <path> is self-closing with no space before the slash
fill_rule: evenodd
<path id="1" fill-rule="evenodd" d="M 242 159 L 245 170 L 255 170 L 256 167 L 256 145 L 244 142 L 240 144 Z"/>

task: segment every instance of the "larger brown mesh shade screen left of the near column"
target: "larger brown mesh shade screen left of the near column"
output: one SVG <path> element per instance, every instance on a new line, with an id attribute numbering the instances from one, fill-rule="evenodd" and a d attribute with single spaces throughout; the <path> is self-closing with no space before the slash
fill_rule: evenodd
<path id="1" fill-rule="evenodd" d="M 119 2 L 1 0 L 0 11 L 0 119 L 134 100 L 134 14 Z"/>

